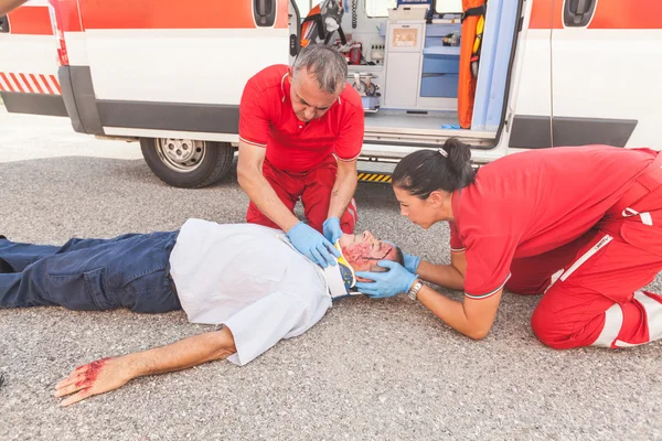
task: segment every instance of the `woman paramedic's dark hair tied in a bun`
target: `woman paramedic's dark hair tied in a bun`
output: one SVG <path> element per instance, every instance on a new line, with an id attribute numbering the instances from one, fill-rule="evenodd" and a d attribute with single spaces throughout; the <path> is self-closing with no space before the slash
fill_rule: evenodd
<path id="1" fill-rule="evenodd" d="M 445 154 L 446 153 L 446 154 Z M 407 154 L 393 172 L 393 185 L 413 196 L 427 198 L 436 190 L 455 192 L 473 183 L 471 149 L 450 138 L 440 150 L 418 150 Z"/>

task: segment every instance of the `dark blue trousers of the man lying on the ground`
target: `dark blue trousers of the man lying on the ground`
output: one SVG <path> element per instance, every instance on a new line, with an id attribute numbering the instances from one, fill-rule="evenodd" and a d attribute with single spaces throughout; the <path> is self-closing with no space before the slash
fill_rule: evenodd
<path id="1" fill-rule="evenodd" d="M 169 263 L 178 234 L 71 239 L 62 247 L 0 239 L 0 309 L 179 310 Z"/>

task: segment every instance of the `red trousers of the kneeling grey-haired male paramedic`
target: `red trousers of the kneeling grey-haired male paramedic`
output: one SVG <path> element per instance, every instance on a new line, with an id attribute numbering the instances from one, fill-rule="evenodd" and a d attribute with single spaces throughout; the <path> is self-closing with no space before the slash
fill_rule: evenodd
<path id="1" fill-rule="evenodd" d="M 322 233 L 322 224 L 329 215 L 331 191 L 335 183 L 337 172 L 338 163 L 332 155 L 329 155 L 314 169 L 305 173 L 292 173 L 275 169 L 266 159 L 263 164 L 263 175 L 285 206 L 293 213 L 297 201 L 301 198 L 308 225 L 320 233 Z M 343 233 L 353 234 L 356 219 L 356 201 L 352 198 L 348 209 L 340 218 L 340 228 Z M 280 228 L 264 215 L 253 202 L 248 205 L 246 220 L 252 224 Z"/>

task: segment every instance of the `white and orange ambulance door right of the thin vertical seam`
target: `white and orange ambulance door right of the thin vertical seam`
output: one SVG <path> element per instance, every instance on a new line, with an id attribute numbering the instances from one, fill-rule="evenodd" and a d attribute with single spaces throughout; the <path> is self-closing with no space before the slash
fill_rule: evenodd
<path id="1" fill-rule="evenodd" d="M 554 0 L 549 12 L 554 146 L 662 148 L 662 2 Z"/>

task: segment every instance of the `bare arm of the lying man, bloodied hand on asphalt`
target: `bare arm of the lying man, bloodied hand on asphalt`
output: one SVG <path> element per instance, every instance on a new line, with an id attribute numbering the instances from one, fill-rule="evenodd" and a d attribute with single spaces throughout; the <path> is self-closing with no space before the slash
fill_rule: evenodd
<path id="1" fill-rule="evenodd" d="M 167 346 L 104 358 L 81 366 L 55 385 L 54 396 L 75 394 L 61 402 L 61 406 L 70 406 L 94 395 L 117 389 L 134 378 L 186 369 L 226 358 L 236 351 L 232 333 L 227 327 L 223 327 Z"/>

